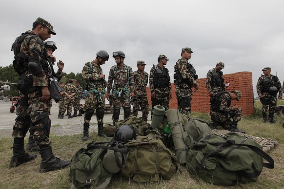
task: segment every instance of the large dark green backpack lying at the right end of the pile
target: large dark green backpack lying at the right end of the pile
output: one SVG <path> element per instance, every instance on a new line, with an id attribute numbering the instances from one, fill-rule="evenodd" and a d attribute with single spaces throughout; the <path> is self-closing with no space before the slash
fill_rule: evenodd
<path id="1" fill-rule="evenodd" d="M 269 163 L 264 163 L 263 158 Z M 186 168 L 206 182 L 229 186 L 255 182 L 263 167 L 273 169 L 274 160 L 252 138 L 235 132 L 209 134 L 190 148 Z"/>

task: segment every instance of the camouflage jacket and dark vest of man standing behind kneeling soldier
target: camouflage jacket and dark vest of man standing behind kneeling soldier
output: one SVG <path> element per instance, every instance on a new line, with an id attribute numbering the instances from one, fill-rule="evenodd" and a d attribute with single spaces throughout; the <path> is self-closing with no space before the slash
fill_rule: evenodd
<path id="1" fill-rule="evenodd" d="M 209 93 L 213 91 L 213 93 L 217 94 L 224 91 L 223 72 L 218 72 L 215 68 L 209 70 L 206 76 L 206 88 Z"/>

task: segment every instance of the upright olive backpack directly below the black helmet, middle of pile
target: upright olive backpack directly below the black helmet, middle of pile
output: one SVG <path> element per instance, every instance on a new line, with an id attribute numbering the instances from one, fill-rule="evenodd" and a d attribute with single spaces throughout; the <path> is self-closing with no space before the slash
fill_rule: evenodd
<path id="1" fill-rule="evenodd" d="M 137 136 L 124 145 L 128 153 L 122 175 L 136 182 L 170 180 L 177 170 L 177 158 L 164 146 L 159 132 Z"/>

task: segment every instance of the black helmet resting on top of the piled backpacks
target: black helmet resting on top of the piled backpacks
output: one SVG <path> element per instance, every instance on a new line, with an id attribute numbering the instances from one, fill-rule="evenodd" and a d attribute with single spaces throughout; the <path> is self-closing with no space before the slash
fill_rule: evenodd
<path id="1" fill-rule="evenodd" d="M 129 125 L 121 125 L 119 128 L 115 130 L 113 140 L 119 141 L 119 142 L 126 142 L 128 140 L 136 139 L 136 133 L 133 127 L 130 127 Z"/>

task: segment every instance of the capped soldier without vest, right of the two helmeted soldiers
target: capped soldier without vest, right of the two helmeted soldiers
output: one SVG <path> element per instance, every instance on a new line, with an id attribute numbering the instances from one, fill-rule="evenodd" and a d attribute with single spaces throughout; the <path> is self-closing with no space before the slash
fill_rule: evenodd
<path id="1" fill-rule="evenodd" d="M 146 92 L 146 86 L 148 84 L 148 74 L 144 72 L 145 69 L 145 62 L 142 60 L 137 61 L 137 68 L 138 70 L 133 72 L 134 76 L 134 97 L 132 99 L 133 101 L 133 113 L 132 115 L 137 116 L 139 106 L 142 110 L 142 117 L 145 122 L 147 122 L 148 119 L 148 99 L 147 99 L 147 92 Z"/>

